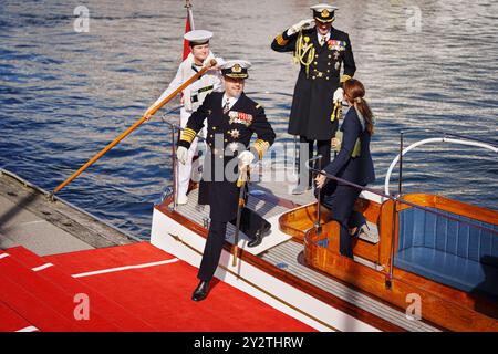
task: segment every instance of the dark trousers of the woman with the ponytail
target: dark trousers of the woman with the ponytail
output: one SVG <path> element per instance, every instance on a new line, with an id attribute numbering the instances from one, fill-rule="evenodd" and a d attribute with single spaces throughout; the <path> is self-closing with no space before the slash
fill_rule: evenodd
<path id="1" fill-rule="evenodd" d="M 346 185 L 329 181 L 322 188 L 321 202 L 332 214 L 332 219 L 340 226 L 339 251 L 342 256 L 353 258 L 350 228 L 361 227 L 365 218 L 361 212 L 354 211 L 354 202 L 361 190 Z"/>

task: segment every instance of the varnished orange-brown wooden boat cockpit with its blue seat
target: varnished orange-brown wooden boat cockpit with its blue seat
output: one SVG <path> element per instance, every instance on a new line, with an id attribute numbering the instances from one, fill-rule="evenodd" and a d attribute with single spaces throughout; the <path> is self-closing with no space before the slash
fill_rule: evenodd
<path id="1" fill-rule="evenodd" d="M 434 195 L 403 199 L 427 210 L 401 201 L 393 210 L 393 200 L 384 201 L 378 214 L 367 212 L 374 205 L 365 209 L 370 220 L 377 220 L 380 242 L 354 239 L 354 260 L 339 252 L 336 221 L 324 223 L 321 233 L 311 228 L 304 262 L 402 311 L 407 295 L 419 294 L 423 319 L 443 329 L 497 331 L 498 212 Z"/>

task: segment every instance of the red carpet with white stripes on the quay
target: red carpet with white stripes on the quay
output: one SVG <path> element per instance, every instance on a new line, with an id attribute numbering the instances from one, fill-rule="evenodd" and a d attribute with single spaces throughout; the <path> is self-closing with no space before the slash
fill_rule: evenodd
<path id="1" fill-rule="evenodd" d="M 0 259 L 0 281 L 8 285 L 0 292 L 7 304 L 0 320 L 10 324 L 1 331 L 27 323 L 40 331 L 314 331 L 220 281 L 205 301 L 191 301 L 197 269 L 183 261 L 70 277 L 174 259 L 148 242 L 44 258 L 23 248 L 7 252 L 11 257 Z M 55 266 L 31 270 L 46 262 Z M 76 293 L 89 295 L 91 321 L 74 320 Z"/>

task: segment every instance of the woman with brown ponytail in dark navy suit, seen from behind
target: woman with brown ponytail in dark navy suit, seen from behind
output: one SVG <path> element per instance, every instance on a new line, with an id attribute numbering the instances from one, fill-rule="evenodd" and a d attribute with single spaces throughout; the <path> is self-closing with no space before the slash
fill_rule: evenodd
<path id="1" fill-rule="evenodd" d="M 350 110 L 340 129 L 342 139 L 332 139 L 332 147 L 339 148 L 339 154 L 323 169 L 330 175 L 361 186 L 366 186 L 375 180 L 370 154 L 373 115 L 364 96 L 365 88 L 360 81 L 351 79 L 344 83 L 344 100 L 347 101 Z M 317 188 L 321 188 L 323 205 L 331 210 L 332 218 L 341 226 L 340 252 L 353 258 L 351 237 L 357 236 L 361 227 L 365 223 L 363 216 L 353 210 L 354 201 L 361 190 L 328 179 L 323 175 L 319 175 L 315 181 Z"/>

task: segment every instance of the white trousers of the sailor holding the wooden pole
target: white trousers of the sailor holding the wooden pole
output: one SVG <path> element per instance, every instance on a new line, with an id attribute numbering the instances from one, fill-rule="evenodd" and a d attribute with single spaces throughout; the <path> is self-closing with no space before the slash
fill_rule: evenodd
<path id="1" fill-rule="evenodd" d="M 191 111 L 186 111 L 185 108 L 180 110 L 180 126 L 181 128 L 185 128 L 187 126 L 187 122 L 188 118 L 191 115 Z M 207 128 L 206 126 L 199 132 L 198 135 L 200 135 L 201 137 L 206 137 L 206 133 L 207 133 Z M 186 196 L 187 195 L 187 190 L 188 190 L 188 183 L 190 180 L 191 177 L 194 177 L 194 179 L 196 181 L 198 181 L 199 177 L 198 177 L 198 168 L 200 167 L 199 164 L 201 164 L 201 160 L 204 159 L 198 159 L 196 160 L 195 165 L 195 174 L 193 176 L 193 163 L 191 159 L 194 158 L 194 155 L 196 154 L 197 150 L 197 144 L 198 144 L 198 138 L 196 137 L 191 144 L 190 144 L 190 148 L 188 149 L 188 158 L 187 158 L 187 163 L 184 165 L 181 163 L 177 163 L 177 173 L 178 173 L 178 177 L 177 177 L 177 185 L 176 185 L 176 190 L 177 190 L 177 195 L 178 196 Z M 201 144 L 206 144 L 206 143 L 201 143 Z M 204 149 L 206 150 L 206 149 Z"/>

